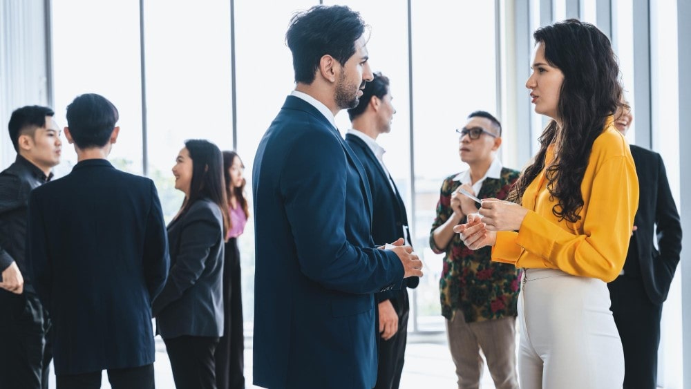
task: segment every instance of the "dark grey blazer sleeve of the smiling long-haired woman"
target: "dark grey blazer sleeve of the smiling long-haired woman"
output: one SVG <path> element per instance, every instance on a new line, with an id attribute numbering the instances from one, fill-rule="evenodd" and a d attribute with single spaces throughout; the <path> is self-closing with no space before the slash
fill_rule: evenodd
<path id="1" fill-rule="evenodd" d="M 152 313 L 156 316 L 167 305 L 178 300 L 185 290 L 194 285 L 204 272 L 211 247 L 218 243 L 218 220 L 208 207 L 192 206 L 180 222 L 180 249 L 171 267 L 168 281 L 153 301 Z"/>

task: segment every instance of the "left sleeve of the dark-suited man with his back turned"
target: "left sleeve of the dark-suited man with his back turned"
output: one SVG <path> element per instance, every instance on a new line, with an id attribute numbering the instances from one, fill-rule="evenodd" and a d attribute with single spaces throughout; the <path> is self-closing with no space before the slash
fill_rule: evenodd
<path id="1" fill-rule="evenodd" d="M 28 224 L 26 228 L 26 267 L 36 293 L 50 310 L 53 292 L 53 260 L 48 253 L 48 231 L 44 224 L 37 191 L 29 194 Z"/>

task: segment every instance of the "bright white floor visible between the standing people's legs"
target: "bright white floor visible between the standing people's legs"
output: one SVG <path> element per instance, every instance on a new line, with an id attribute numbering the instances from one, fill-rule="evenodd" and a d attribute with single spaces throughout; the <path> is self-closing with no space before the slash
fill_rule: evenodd
<path id="1" fill-rule="evenodd" d="M 258 388 L 258 386 L 252 386 L 251 384 L 252 340 L 247 339 L 245 343 L 245 378 L 247 379 L 247 389 Z M 175 388 L 168 355 L 166 354 L 165 345 L 160 338 L 156 338 L 154 370 L 156 374 L 156 388 Z M 443 333 L 409 335 L 408 347 L 406 349 L 406 365 L 404 366 L 403 377 L 401 377 L 401 389 L 456 388 L 454 370 L 451 354 L 449 354 L 446 345 L 446 336 Z M 54 376 L 51 377 L 50 385 L 50 388 L 55 388 Z M 105 373 L 103 374 L 102 388 L 111 388 Z M 484 374 L 482 374 L 482 385 L 480 388 L 494 388 L 486 368 Z"/>

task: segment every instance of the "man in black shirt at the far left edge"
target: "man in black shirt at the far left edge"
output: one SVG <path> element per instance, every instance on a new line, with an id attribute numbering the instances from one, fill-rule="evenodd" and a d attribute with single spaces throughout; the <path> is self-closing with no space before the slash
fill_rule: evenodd
<path id="1" fill-rule="evenodd" d="M 48 389 L 50 320 L 27 272 L 29 192 L 53 178 L 62 143 L 52 109 L 24 106 L 8 129 L 15 163 L 0 173 L 0 388 Z"/>

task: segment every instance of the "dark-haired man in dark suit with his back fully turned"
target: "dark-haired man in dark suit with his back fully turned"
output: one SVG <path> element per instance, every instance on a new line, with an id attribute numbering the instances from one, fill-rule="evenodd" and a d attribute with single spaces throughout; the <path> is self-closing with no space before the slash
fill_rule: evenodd
<path id="1" fill-rule="evenodd" d="M 77 164 L 29 198 L 26 258 L 53 321 L 57 388 L 153 388 L 151 300 L 168 274 L 166 228 L 153 181 L 113 168 L 120 131 L 100 95 L 67 107 Z"/>

